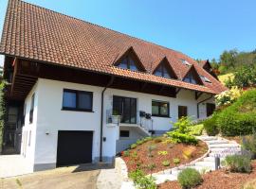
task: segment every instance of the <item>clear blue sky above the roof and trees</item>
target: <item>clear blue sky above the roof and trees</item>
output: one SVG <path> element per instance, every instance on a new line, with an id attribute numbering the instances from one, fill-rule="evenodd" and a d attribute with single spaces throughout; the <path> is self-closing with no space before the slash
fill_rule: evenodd
<path id="1" fill-rule="evenodd" d="M 226 49 L 256 48 L 255 0 L 26 1 L 173 48 L 194 59 L 218 59 Z M 0 0 L 0 28 L 7 2 Z"/>

